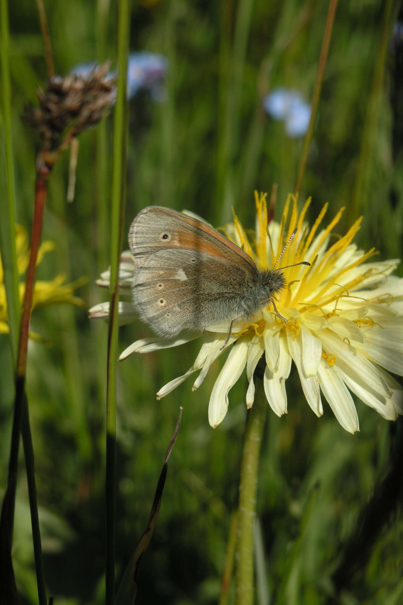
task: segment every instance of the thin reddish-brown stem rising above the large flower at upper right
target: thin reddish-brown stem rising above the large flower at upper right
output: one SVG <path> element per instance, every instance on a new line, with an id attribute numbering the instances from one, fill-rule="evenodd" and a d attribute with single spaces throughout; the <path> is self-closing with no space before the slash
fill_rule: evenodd
<path id="1" fill-rule="evenodd" d="M 318 106 L 319 106 L 320 91 L 321 91 L 322 82 L 323 82 L 324 68 L 326 67 L 327 54 L 329 53 L 330 39 L 332 38 L 332 29 L 333 29 L 333 24 L 334 24 L 334 19 L 335 19 L 337 2 L 338 2 L 338 0 L 330 0 L 329 10 L 327 11 L 326 27 L 324 28 L 322 48 L 320 51 L 319 65 L 318 65 L 318 71 L 316 74 L 316 81 L 315 81 L 315 87 L 314 87 L 314 94 L 312 96 L 311 119 L 309 120 L 308 132 L 306 133 L 302 152 L 301 152 L 300 165 L 298 166 L 297 180 L 295 181 L 295 188 L 294 188 L 295 195 L 299 195 L 301 192 L 302 181 L 303 181 L 303 177 L 305 175 L 306 161 L 308 160 L 308 151 L 309 151 L 309 147 L 311 146 L 312 136 L 314 134 L 316 116 L 318 113 Z"/>

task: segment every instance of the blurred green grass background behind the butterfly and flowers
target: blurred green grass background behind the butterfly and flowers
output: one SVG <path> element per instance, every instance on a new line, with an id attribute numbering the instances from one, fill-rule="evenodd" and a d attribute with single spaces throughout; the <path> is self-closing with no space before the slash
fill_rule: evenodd
<path id="1" fill-rule="evenodd" d="M 403 40 L 393 26 L 399 2 L 339 2 L 314 139 L 301 193 L 312 195 L 309 220 L 329 202 L 327 218 L 347 206 L 340 232 L 364 214 L 358 243 L 380 258 L 401 257 L 403 231 Z M 112 59 L 115 5 L 108 0 L 45 1 L 56 73 Z M 10 2 L 11 85 L 16 217 L 28 230 L 33 211 L 36 133 L 21 121 L 46 66 L 36 4 Z M 292 192 L 303 138 L 262 110 L 276 87 L 310 100 L 327 2 L 170 0 L 134 2 L 131 50 L 169 60 L 166 99 L 147 92 L 131 100 L 126 233 L 149 204 L 189 209 L 214 226 L 234 207 L 254 226 L 253 190 L 278 183 L 276 217 Z M 403 19 L 403 14 L 400 15 Z M 51 174 L 44 220 L 48 253 L 38 278 L 85 275 L 77 295 L 85 308 L 37 309 L 31 330 L 28 399 L 48 594 L 55 603 L 104 599 L 105 385 L 107 326 L 86 309 L 106 299 L 95 286 L 109 263 L 112 116 L 80 137 L 76 195 L 66 202 L 68 154 Z M 4 154 L 1 178 L 4 181 Z M 5 203 L 2 186 L 1 203 Z M 127 247 L 126 236 L 124 248 Z M 119 352 L 149 336 L 137 322 L 120 330 Z M 245 427 L 246 378 L 230 392 L 224 422 L 212 430 L 208 399 L 222 359 L 195 393 L 188 381 L 162 401 L 158 389 L 192 365 L 201 339 L 175 350 L 131 356 L 118 365 L 117 579 L 149 517 L 156 482 L 175 428 L 160 516 L 141 561 L 138 603 L 216 603 L 231 512 L 236 507 Z M 387 469 L 399 435 L 357 403 L 361 432 L 346 433 L 326 405 L 312 414 L 293 368 L 288 415 L 268 411 L 258 503 L 262 549 L 256 602 L 324 603 L 329 575 L 361 508 Z M 0 489 L 7 481 L 13 372 L 0 335 Z M 400 427 L 401 429 L 401 427 Z M 368 564 L 346 586 L 343 603 L 403 602 L 403 516 L 395 512 L 372 545 Z M 18 479 L 13 561 L 21 603 L 36 603 L 24 460 Z M 359 563 L 359 561 L 358 561 Z M 230 603 L 233 603 L 233 590 Z"/>

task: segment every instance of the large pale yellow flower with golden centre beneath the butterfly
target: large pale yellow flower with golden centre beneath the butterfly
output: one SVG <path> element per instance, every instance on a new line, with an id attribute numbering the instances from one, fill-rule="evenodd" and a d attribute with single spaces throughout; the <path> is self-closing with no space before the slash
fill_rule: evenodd
<path id="1" fill-rule="evenodd" d="M 297 235 L 283 254 L 282 265 L 304 260 L 311 266 L 286 269 L 287 286 L 276 297 L 277 310 L 286 321 L 269 304 L 248 322 L 234 322 L 225 348 L 233 346 L 211 391 L 208 420 L 212 427 L 224 419 L 228 393 L 245 367 L 249 383 L 246 404 L 248 408 L 253 405 L 253 374 L 263 354 L 266 361 L 264 390 L 270 407 L 278 416 L 287 412 L 286 379 L 292 362 L 312 411 L 317 416 L 323 414 L 323 394 L 338 422 L 350 433 L 359 430 L 351 393 L 385 419 L 395 420 L 403 413 L 402 387 L 389 373 L 403 375 L 403 279 L 391 275 L 399 260 L 368 262 L 375 255 L 375 249 L 364 253 L 352 243 L 361 218 L 344 237 L 329 246 L 332 230 L 343 209 L 325 229 L 320 229 L 326 204 L 309 229 L 305 222 L 309 202 L 298 215 L 296 200 L 290 196 L 280 223 L 268 223 L 265 195 L 256 194 L 255 237 L 247 237 L 236 217 L 225 227 L 225 235 L 242 247 L 262 269 L 273 266 L 297 227 Z M 126 252 L 121 259 L 120 288 L 128 295 L 133 271 L 130 252 Z M 102 274 L 98 284 L 109 285 L 108 272 Z M 90 315 L 105 317 L 108 311 L 108 303 L 102 303 L 93 307 Z M 120 302 L 119 315 L 121 323 L 133 321 L 131 302 Z M 192 367 L 161 388 L 158 399 L 199 371 L 193 384 L 193 390 L 196 390 L 210 365 L 221 355 L 229 330 L 230 320 L 208 328 Z M 175 339 L 141 339 L 130 345 L 120 359 L 134 352 L 174 347 L 197 336 L 184 334 Z"/>

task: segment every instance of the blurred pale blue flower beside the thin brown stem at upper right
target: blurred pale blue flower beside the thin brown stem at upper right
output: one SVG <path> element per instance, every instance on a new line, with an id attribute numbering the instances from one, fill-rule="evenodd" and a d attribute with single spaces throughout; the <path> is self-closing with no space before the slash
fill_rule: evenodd
<path id="1" fill-rule="evenodd" d="M 311 119 L 311 105 L 300 92 L 275 88 L 263 99 L 263 108 L 274 120 L 284 120 L 286 134 L 292 139 L 306 134 Z"/>

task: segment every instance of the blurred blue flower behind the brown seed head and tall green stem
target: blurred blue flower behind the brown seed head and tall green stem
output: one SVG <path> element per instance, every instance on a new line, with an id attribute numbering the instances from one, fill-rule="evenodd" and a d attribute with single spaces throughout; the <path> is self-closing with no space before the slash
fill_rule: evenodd
<path id="1" fill-rule="evenodd" d="M 71 73 L 79 76 L 88 76 L 96 62 L 82 63 L 76 65 Z M 166 90 L 163 86 L 164 78 L 168 71 L 168 60 L 163 54 L 141 53 L 129 54 L 129 63 L 127 65 L 127 98 L 132 99 L 139 90 L 148 90 L 152 99 L 158 102 L 166 99 Z M 108 74 L 115 77 L 117 71 Z"/>

